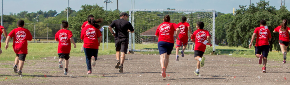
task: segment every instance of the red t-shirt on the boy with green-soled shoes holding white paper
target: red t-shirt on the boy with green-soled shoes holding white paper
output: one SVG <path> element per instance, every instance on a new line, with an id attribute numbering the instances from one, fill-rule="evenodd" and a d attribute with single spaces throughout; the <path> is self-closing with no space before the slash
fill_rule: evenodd
<path id="1" fill-rule="evenodd" d="M 198 51 L 205 51 L 206 45 L 203 44 L 204 40 L 207 39 L 207 36 L 211 36 L 207 30 L 204 29 L 197 29 L 196 31 L 193 32 L 191 39 L 195 39 L 195 46 L 194 50 Z"/>

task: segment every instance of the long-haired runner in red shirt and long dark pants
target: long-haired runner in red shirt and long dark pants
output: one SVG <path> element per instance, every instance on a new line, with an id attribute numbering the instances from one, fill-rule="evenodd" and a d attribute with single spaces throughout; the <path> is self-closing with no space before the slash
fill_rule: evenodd
<path id="1" fill-rule="evenodd" d="M 98 23 L 102 22 L 102 19 L 95 20 L 93 17 L 88 18 L 88 24 L 82 29 L 81 39 L 84 40 L 84 53 L 86 55 L 87 74 L 92 73 L 92 66 L 96 65 L 98 59 L 98 50 L 102 41 L 102 34 L 99 30 Z M 99 39 L 98 39 L 99 38 Z M 91 65 L 92 63 L 92 65 Z"/>

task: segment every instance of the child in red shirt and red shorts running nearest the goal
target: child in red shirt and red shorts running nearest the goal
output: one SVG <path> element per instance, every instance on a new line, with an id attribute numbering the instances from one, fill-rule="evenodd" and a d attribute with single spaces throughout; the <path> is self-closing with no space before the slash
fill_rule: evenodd
<path id="1" fill-rule="evenodd" d="M 190 32 L 190 36 L 192 35 L 191 28 L 189 23 L 186 22 L 186 17 L 182 16 L 181 22 L 177 24 L 180 28 L 179 33 L 179 40 L 176 40 L 176 61 L 179 61 L 178 51 L 179 47 L 183 46 L 181 51 L 181 57 L 184 57 L 184 50 L 186 49 L 187 43 L 188 43 L 188 31 Z"/>

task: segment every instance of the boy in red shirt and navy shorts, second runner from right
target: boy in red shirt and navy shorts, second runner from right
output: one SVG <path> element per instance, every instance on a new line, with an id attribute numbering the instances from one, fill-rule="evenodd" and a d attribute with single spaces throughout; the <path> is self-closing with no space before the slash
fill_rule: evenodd
<path id="1" fill-rule="evenodd" d="M 257 58 L 259 58 L 259 64 L 263 63 L 262 72 L 266 73 L 266 64 L 267 64 L 267 58 L 268 53 L 270 49 L 270 45 L 268 41 L 271 41 L 271 33 L 268 27 L 265 27 L 266 21 L 262 19 L 260 21 L 260 27 L 255 28 L 254 33 L 252 35 L 250 47 L 252 47 L 252 43 L 254 41 L 254 38 L 257 36 L 256 39 L 256 47 L 255 47 L 255 55 Z"/>

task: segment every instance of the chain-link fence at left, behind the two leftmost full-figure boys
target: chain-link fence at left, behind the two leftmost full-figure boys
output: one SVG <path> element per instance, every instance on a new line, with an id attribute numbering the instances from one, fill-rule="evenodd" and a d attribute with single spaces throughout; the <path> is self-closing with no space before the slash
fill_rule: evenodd
<path id="1" fill-rule="evenodd" d="M 3 27 L 6 29 L 7 35 L 11 30 L 17 28 L 17 23 L 3 23 Z M 25 23 L 24 28 L 28 29 L 32 35 L 31 43 L 57 43 L 55 34 L 61 29 L 61 24 L 49 24 L 49 23 Z M 1 42 L 5 42 L 6 38 L 3 38 Z M 13 39 L 10 39 L 12 42 Z"/>

